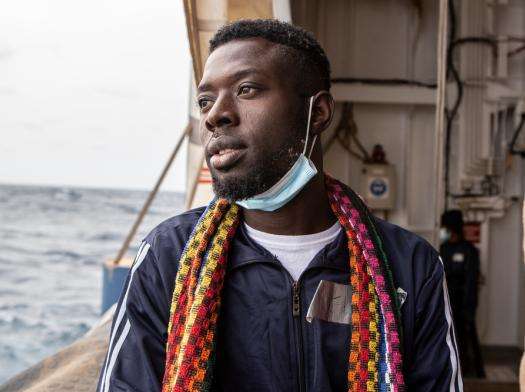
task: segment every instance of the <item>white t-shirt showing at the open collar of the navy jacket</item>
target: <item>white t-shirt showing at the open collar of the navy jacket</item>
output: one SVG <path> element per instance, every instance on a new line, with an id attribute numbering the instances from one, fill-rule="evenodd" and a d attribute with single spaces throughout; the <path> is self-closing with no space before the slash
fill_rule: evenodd
<path id="1" fill-rule="evenodd" d="M 341 231 L 339 222 L 320 233 L 306 235 L 270 234 L 256 230 L 246 223 L 244 226 L 250 238 L 275 255 L 295 281 L 314 256 L 335 240 Z"/>

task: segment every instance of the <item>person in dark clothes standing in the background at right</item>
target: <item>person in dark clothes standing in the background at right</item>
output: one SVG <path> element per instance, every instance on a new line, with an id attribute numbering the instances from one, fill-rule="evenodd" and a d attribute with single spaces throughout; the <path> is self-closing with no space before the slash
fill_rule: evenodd
<path id="1" fill-rule="evenodd" d="M 441 240 L 439 253 L 445 267 L 463 374 L 465 377 L 484 378 L 476 329 L 479 254 L 463 236 L 463 214 L 460 210 L 448 210 L 441 216 Z"/>

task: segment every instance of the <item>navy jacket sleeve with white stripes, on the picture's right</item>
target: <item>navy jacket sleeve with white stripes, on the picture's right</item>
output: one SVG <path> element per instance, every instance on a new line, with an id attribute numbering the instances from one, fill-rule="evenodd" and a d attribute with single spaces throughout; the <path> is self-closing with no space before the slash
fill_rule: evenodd
<path id="1" fill-rule="evenodd" d="M 441 258 L 433 252 L 433 267 L 416 300 L 415 350 L 407 374 L 409 391 L 463 391 L 461 368 L 447 283 Z"/>

